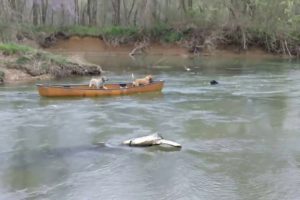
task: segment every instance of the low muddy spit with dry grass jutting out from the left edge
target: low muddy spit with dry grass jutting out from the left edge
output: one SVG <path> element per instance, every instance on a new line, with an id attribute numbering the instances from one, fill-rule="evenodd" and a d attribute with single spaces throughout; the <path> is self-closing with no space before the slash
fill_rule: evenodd
<path id="1" fill-rule="evenodd" d="M 0 51 L 0 83 L 36 81 L 67 76 L 100 75 L 100 66 L 79 57 L 64 58 L 41 50 L 7 54 Z"/>

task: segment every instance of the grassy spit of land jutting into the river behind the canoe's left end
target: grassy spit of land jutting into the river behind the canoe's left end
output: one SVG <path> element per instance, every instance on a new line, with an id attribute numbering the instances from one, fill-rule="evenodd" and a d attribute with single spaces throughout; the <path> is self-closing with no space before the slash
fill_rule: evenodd
<path id="1" fill-rule="evenodd" d="M 0 43 L 0 82 L 11 80 L 7 72 L 14 70 L 26 74 L 26 78 L 40 76 L 66 77 L 71 75 L 95 75 L 101 73 L 97 65 L 74 62 L 65 57 L 15 43 Z M 16 78 L 18 79 L 18 78 Z M 22 77 L 20 78 L 22 79 Z M 13 80 L 11 80 L 13 81 Z"/>

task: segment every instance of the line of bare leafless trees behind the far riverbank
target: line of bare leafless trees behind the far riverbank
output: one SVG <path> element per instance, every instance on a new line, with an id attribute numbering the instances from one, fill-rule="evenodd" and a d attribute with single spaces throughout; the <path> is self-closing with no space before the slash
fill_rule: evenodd
<path id="1" fill-rule="evenodd" d="M 0 28 L 158 26 L 190 40 L 252 44 L 292 54 L 300 41 L 299 0 L 7 0 L 0 1 Z M 189 32 L 190 33 L 190 32 Z M 1 33 L 3 35 L 3 33 Z M 1 37 L 1 35 L 0 35 Z M 181 37 L 179 37 L 180 39 Z M 205 39 L 202 39 L 202 44 Z"/>

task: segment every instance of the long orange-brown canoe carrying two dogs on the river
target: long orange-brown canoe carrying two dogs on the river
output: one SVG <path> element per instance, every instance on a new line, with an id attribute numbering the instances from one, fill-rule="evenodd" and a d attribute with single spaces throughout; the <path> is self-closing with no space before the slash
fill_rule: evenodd
<path id="1" fill-rule="evenodd" d="M 161 91 L 164 81 L 148 85 L 133 86 L 132 83 L 105 84 L 106 89 L 90 88 L 87 84 L 37 84 L 39 94 L 45 97 L 97 97 L 128 95 Z"/>

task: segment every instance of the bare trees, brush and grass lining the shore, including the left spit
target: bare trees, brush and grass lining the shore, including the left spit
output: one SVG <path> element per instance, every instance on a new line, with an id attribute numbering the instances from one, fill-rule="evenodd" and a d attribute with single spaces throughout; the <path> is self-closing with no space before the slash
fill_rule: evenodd
<path id="1" fill-rule="evenodd" d="M 0 30 L 0 82 L 8 70 L 34 78 L 96 73 L 45 52 L 74 37 L 124 47 L 129 56 L 161 46 L 186 57 L 253 49 L 299 57 L 300 1 L 8 0 L 0 1 Z"/>

